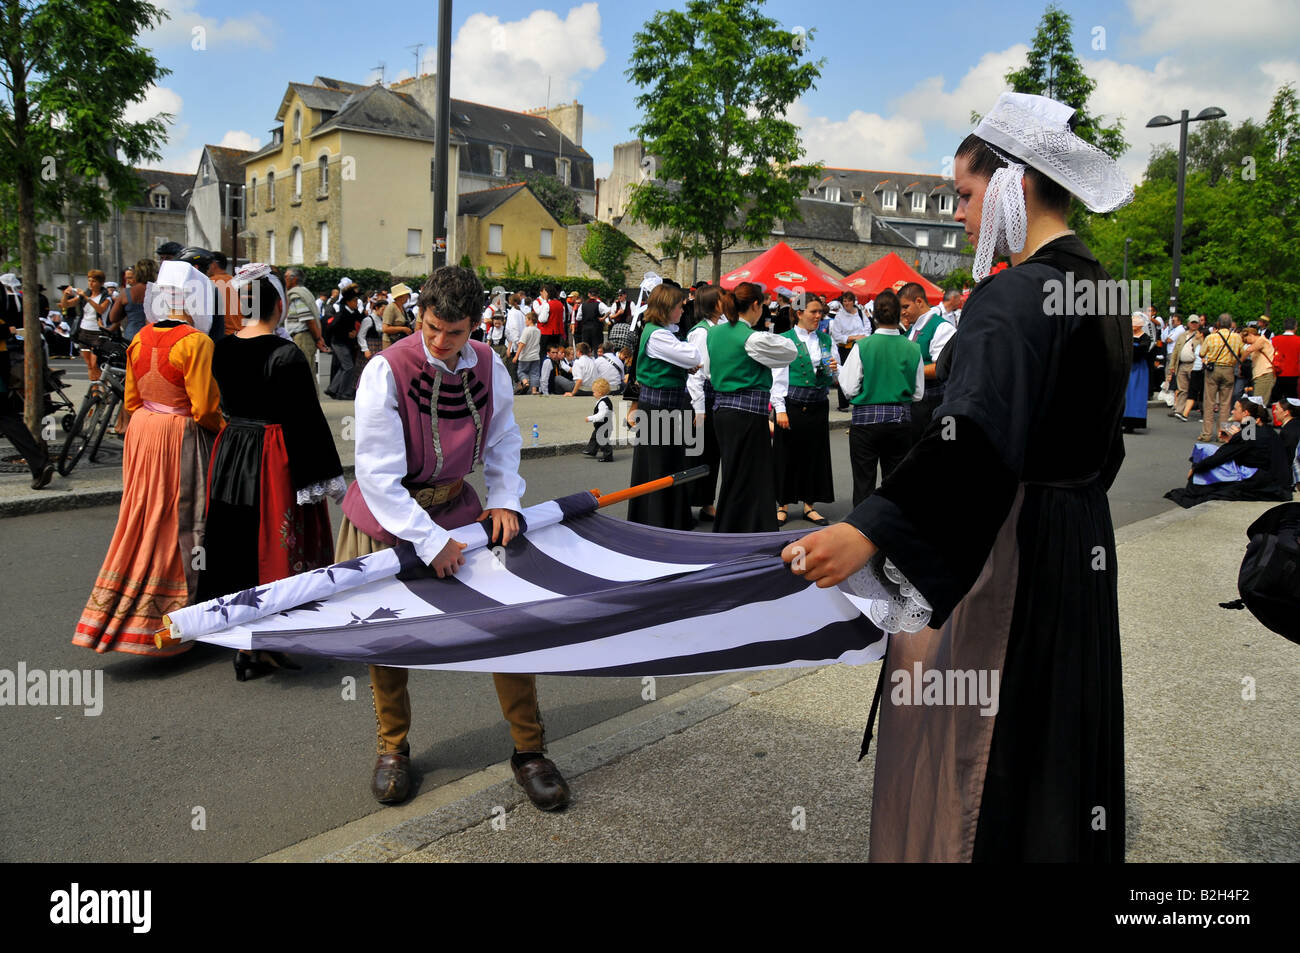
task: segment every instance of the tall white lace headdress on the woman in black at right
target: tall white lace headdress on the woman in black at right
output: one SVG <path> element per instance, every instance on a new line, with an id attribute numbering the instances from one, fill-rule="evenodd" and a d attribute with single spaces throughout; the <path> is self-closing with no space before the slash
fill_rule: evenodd
<path id="1" fill-rule="evenodd" d="M 1027 216 L 1020 182 L 1031 165 L 1066 189 L 1093 212 L 1112 212 L 1132 202 L 1134 189 L 1119 164 L 1070 131 L 1074 108 L 1046 96 L 1004 92 L 975 126 L 975 135 L 1006 161 L 984 190 L 979 243 L 972 274 L 988 276 L 994 252 L 1024 248 Z"/>

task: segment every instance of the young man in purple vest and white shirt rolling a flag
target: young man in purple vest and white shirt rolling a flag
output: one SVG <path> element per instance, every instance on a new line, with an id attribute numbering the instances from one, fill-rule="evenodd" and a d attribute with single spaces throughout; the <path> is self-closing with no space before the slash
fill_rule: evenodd
<path id="1" fill-rule="evenodd" d="M 356 391 L 356 482 L 343 501 L 335 559 L 355 559 L 406 540 L 446 579 L 464 564 L 464 543 L 448 530 L 490 521 L 502 546 L 519 533 L 523 438 L 510 373 L 491 348 L 469 339 L 482 286 L 465 268 L 438 268 L 417 302 L 420 334 L 402 338 L 365 365 Z M 486 507 L 465 477 L 481 463 Z M 436 624 L 436 623 L 434 623 Z M 378 761 L 370 792 L 400 803 L 411 789 L 407 668 L 370 666 Z M 569 800 L 568 785 L 543 757 L 537 680 L 494 675 L 515 741 L 515 780 L 541 810 Z"/>

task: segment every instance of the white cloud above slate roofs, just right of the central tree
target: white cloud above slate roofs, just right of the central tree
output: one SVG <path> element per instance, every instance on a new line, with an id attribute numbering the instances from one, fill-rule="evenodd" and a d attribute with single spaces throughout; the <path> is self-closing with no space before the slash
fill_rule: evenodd
<path id="1" fill-rule="evenodd" d="M 916 169 L 926 134 L 914 116 L 880 116 L 854 109 L 842 120 L 811 116 L 802 100 L 786 118 L 800 127 L 807 159 L 848 169 Z"/>

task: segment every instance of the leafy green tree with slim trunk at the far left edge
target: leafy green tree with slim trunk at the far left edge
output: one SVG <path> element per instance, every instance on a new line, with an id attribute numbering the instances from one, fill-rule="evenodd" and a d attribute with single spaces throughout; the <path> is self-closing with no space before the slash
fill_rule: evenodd
<path id="1" fill-rule="evenodd" d="M 110 203 L 138 198 L 134 165 L 160 157 L 170 117 L 124 113 L 169 72 L 136 43 L 165 16 L 140 0 L 6 0 L 0 12 L 0 181 L 13 186 L 27 341 L 40 341 L 38 221 L 61 220 L 68 205 L 107 218 Z M 25 351 L 27 426 L 39 438 L 43 355 Z"/>

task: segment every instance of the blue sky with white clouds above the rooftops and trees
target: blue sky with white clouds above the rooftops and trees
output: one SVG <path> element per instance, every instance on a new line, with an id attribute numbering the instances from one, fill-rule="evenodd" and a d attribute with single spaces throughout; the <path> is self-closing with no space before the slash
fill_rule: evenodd
<path id="1" fill-rule="evenodd" d="M 289 82 L 324 74 L 391 82 L 436 64 L 436 0 L 382 4 L 317 0 L 155 0 L 170 21 L 146 36 L 172 74 L 134 114 L 170 112 L 159 168 L 192 172 L 204 143 L 254 148 L 268 140 Z M 684 4 L 673 4 L 684 7 Z M 452 95 L 515 109 L 577 99 L 584 147 L 597 174 L 615 143 L 632 137 L 637 88 L 624 75 L 633 34 L 655 5 L 462 0 L 452 18 Z M 828 165 L 940 172 L 965 133 L 1023 65 L 1044 0 L 931 0 L 922 5 L 848 0 L 770 0 L 768 16 L 812 31 L 824 57 L 816 90 L 790 118 L 809 157 Z M 1295 0 L 1065 1 L 1075 52 L 1097 81 L 1093 111 L 1124 120 L 1122 160 L 1132 177 L 1170 130 L 1157 113 L 1219 105 L 1232 121 L 1261 120 L 1278 85 L 1300 85 L 1300 3 Z"/>

